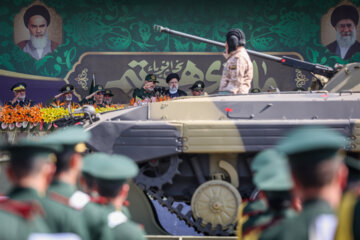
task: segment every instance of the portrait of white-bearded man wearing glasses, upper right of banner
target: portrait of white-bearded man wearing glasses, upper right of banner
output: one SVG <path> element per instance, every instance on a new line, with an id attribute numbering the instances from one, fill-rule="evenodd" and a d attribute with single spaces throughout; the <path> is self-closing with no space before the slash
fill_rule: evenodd
<path id="1" fill-rule="evenodd" d="M 360 43 L 356 40 L 356 27 L 359 23 L 359 13 L 352 5 L 340 5 L 331 14 L 331 25 L 336 31 L 336 41 L 326 47 L 330 52 L 342 59 L 350 59 L 360 52 Z"/>

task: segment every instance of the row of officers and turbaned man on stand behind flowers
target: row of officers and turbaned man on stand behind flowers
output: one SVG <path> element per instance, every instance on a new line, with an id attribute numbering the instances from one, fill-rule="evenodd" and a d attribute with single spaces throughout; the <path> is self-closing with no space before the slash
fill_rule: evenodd
<path id="1" fill-rule="evenodd" d="M 168 96 L 170 98 L 187 96 L 186 92 L 179 89 L 180 77 L 177 73 L 171 73 L 166 78 L 166 83 L 169 85 L 169 89 L 163 87 L 156 87 L 156 83 L 159 81 L 154 74 L 148 74 L 145 77 L 144 85 L 141 88 L 134 89 L 133 98 L 135 101 L 149 100 L 153 97 Z M 26 97 L 26 84 L 23 82 L 16 83 L 11 87 L 11 91 L 14 93 L 14 98 L 8 101 L 6 104 L 13 107 L 19 105 L 34 106 L 36 103 Z M 189 89 L 193 96 L 199 96 L 204 94 L 205 84 L 203 81 L 196 81 Z M 95 107 L 107 107 L 113 104 L 112 98 L 114 94 L 111 89 L 104 89 L 102 85 L 96 85 L 90 95 L 86 96 L 79 103 L 75 103 L 74 98 L 74 86 L 71 84 L 65 84 L 60 90 L 60 93 L 54 96 L 54 98 L 47 101 L 46 105 L 53 107 L 64 107 L 79 105 L 94 105 Z"/>

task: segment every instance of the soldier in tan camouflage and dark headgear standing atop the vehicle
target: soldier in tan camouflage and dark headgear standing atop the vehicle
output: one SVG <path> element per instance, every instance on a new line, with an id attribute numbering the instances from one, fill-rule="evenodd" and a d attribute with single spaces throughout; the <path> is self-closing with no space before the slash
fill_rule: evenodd
<path id="1" fill-rule="evenodd" d="M 251 88 L 253 65 L 245 49 L 245 34 L 238 28 L 226 34 L 226 63 L 220 81 L 220 94 L 247 94 Z"/>

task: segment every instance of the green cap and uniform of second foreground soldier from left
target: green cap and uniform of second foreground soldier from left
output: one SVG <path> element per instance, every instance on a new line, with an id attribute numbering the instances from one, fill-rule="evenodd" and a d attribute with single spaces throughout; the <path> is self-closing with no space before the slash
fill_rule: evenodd
<path id="1" fill-rule="evenodd" d="M 89 132 L 73 126 L 49 134 L 41 141 L 61 144 L 64 148 L 63 152 L 82 153 L 85 151 L 83 142 L 89 138 Z M 61 161 L 69 161 L 69 158 L 70 156 L 66 158 L 59 156 L 58 164 Z M 58 166 L 58 169 L 61 169 L 61 166 Z M 56 231 L 75 232 L 82 239 L 100 239 L 98 226 L 103 225 L 104 209 L 92 203 L 89 195 L 55 176 L 48 189 L 48 198 L 50 201 L 47 202 L 49 207 L 46 208 L 47 222 Z"/>

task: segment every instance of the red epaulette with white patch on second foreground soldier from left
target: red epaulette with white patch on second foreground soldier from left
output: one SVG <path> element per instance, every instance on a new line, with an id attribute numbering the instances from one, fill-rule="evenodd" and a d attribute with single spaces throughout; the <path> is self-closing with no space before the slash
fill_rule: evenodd
<path id="1" fill-rule="evenodd" d="M 70 198 L 67 198 L 56 192 L 50 192 L 49 197 L 53 201 L 59 202 L 76 210 L 82 210 L 86 204 L 90 202 L 89 195 L 81 191 L 76 191 L 73 193 L 73 195 L 71 195 Z"/>

